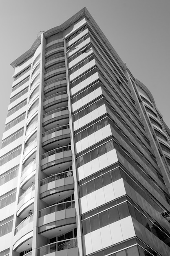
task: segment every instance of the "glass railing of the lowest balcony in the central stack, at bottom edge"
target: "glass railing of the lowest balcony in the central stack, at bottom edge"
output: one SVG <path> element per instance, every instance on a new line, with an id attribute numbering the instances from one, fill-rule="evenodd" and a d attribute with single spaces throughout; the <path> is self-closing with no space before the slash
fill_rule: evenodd
<path id="1" fill-rule="evenodd" d="M 49 245 L 45 245 L 38 249 L 38 256 L 44 256 L 46 254 L 50 254 L 52 252 L 62 251 L 65 249 L 75 248 L 77 247 L 77 238 L 71 238 L 67 240 L 58 241 L 55 243 L 51 243 Z"/>

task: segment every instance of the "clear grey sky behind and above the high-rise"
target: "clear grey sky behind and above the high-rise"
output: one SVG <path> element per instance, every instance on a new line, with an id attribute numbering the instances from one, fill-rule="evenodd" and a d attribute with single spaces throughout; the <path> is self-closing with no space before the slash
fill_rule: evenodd
<path id="1" fill-rule="evenodd" d="M 170 0 L 0 0 L 0 144 L 13 82 L 9 65 L 41 30 L 86 7 L 170 127 Z"/>

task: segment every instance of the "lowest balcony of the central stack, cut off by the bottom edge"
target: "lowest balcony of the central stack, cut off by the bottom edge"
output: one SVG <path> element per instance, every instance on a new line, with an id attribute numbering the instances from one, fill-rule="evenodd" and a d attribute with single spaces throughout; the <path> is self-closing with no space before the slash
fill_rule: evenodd
<path id="1" fill-rule="evenodd" d="M 63 252 L 63 250 L 65 250 L 65 252 Z M 44 256 L 55 252 L 57 252 L 57 256 L 78 256 L 77 238 L 61 240 L 59 242 L 44 245 L 38 249 L 38 256 Z"/>

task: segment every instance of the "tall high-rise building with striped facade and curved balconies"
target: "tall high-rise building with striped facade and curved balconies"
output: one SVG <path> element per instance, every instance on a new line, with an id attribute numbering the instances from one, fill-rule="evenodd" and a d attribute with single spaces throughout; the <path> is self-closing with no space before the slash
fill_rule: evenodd
<path id="1" fill-rule="evenodd" d="M 170 130 L 87 9 L 11 65 L 0 256 L 169 256 Z"/>

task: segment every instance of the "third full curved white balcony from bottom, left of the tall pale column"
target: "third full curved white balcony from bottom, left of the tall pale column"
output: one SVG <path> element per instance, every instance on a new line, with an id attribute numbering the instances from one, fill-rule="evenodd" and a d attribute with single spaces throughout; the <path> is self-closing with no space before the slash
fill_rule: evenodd
<path id="1" fill-rule="evenodd" d="M 21 173 L 20 189 L 28 189 L 35 182 L 36 159 L 29 163 Z"/>

